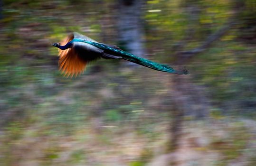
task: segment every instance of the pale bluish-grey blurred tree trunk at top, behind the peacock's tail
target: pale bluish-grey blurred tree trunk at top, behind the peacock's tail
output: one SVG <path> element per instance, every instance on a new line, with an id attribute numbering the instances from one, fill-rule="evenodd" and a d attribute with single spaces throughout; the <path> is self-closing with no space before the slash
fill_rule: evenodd
<path id="1" fill-rule="evenodd" d="M 132 54 L 143 56 L 144 31 L 141 24 L 143 0 L 119 0 L 117 30 L 120 45 Z"/>

